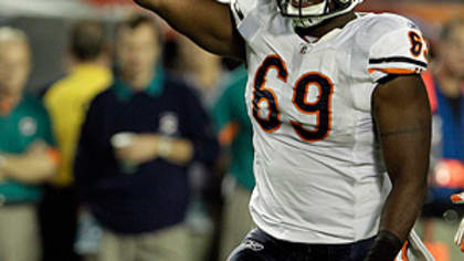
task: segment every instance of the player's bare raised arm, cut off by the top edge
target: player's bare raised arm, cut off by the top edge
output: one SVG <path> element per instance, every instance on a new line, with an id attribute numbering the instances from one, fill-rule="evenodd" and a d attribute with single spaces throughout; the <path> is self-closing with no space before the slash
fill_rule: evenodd
<path id="1" fill-rule="evenodd" d="M 173 29 L 218 55 L 244 58 L 244 42 L 229 6 L 214 0 L 134 0 L 165 19 Z"/>

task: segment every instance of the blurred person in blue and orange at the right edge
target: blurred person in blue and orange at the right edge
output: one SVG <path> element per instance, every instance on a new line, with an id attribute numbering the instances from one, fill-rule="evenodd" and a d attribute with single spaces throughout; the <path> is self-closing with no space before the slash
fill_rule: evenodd
<path id="1" fill-rule="evenodd" d="M 464 189 L 464 19 L 443 25 L 437 53 L 423 74 L 433 112 L 433 147 L 429 197 L 423 209 L 424 240 L 437 260 L 455 260 L 450 249 L 464 213 L 450 197 Z M 443 219 L 443 216 L 444 219 Z M 454 258 L 454 259 L 453 259 Z"/>

